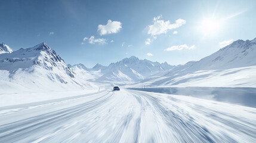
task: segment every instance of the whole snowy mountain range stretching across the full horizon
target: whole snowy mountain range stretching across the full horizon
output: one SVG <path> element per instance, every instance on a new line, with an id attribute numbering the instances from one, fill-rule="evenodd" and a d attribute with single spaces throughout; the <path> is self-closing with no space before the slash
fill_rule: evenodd
<path id="1" fill-rule="evenodd" d="M 238 40 L 199 61 L 171 66 L 132 56 L 109 66 L 66 64 L 46 43 L 13 51 L 0 44 L 0 88 L 70 90 L 98 85 L 209 86 L 230 81 L 233 86 L 256 86 L 256 38 Z M 228 80 L 226 80 L 227 78 Z M 255 81 L 254 81 L 255 79 Z M 211 81 L 215 81 L 212 83 Z M 226 84 L 226 85 L 227 85 Z M 215 85 L 215 86 L 218 86 Z"/>

